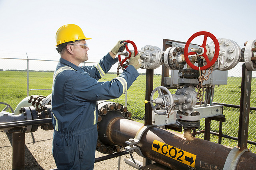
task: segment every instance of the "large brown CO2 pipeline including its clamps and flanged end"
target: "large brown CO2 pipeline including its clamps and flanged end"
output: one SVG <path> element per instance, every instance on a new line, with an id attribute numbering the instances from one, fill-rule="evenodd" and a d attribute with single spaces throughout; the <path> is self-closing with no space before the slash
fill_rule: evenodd
<path id="1" fill-rule="evenodd" d="M 187 130 L 180 134 L 159 127 L 146 127 L 118 116 L 114 110 L 108 112 L 113 112 L 112 116 L 104 116 L 99 125 L 98 140 L 102 144 L 134 148 L 139 155 L 171 169 L 223 169 L 224 166 L 256 169 L 256 154 L 250 151 L 195 138 Z"/>

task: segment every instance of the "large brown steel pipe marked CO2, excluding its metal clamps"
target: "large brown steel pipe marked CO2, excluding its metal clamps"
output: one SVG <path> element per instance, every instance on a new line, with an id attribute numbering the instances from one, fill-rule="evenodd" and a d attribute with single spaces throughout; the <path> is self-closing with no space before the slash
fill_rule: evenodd
<path id="1" fill-rule="evenodd" d="M 115 144 L 127 146 L 125 141 L 134 138 L 143 126 L 142 123 L 119 117 L 108 123 L 106 136 Z M 135 146 L 140 148 L 145 157 L 172 169 L 223 169 L 231 147 L 187 136 L 185 138 L 177 132 L 150 127 Z M 161 153 L 156 152 L 156 149 Z M 175 157 L 175 154 L 176 158 L 171 158 Z M 193 155 L 193 159 L 189 158 L 190 155 Z M 256 154 L 244 152 L 237 162 L 236 169 L 256 169 Z"/>

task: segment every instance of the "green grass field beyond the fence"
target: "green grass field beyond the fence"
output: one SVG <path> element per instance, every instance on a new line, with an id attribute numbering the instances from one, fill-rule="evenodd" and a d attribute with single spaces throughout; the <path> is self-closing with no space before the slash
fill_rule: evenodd
<path id="1" fill-rule="evenodd" d="M 0 71 L 0 102 L 8 103 L 13 109 L 16 108 L 18 103 L 27 97 L 27 73 L 23 71 Z M 29 72 L 29 89 L 51 89 L 52 88 L 53 73 L 49 72 Z M 99 81 L 110 81 L 116 77 L 116 74 L 106 74 L 104 78 Z M 256 97 L 253 84 L 256 79 L 252 79 L 251 90 L 251 107 L 256 106 Z M 145 85 L 146 75 L 140 75 L 137 80 L 132 84 L 127 91 L 127 108 L 133 114 L 132 119 L 144 123 L 144 110 L 145 110 Z M 154 75 L 154 87 L 161 85 L 161 75 Z M 215 87 L 214 102 L 228 103 L 232 105 L 240 105 L 240 86 L 241 77 L 228 77 L 228 85 L 220 85 Z M 171 93 L 175 93 L 176 90 L 171 90 Z M 51 93 L 51 90 L 43 91 L 29 91 L 29 95 L 44 95 L 47 96 Z M 116 103 L 125 105 L 125 94 L 118 99 L 111 100 Z M 0 111 L 4 108 L 4 105 L 0 105 Z M 223 134 L 230 136 L 238 136 L 238 123 L 239 123 L 239 109 L 224 107 L 223 114 L 226 117 L 226 123 L 223 123 Z M 249 134 L 248 140 L 256 141 L 256 114 L 255 111 L 251 111 L 249 121 Z M 219 123 L 212 121 L 211 131 L 218 132 Z M 201 126 L 199 130 L 204 129 L 204 119 L 201 120 Z M 197 137 L 204 138 L 204 134 L 197 135 Z M 212 142 L 218 142 L 218 137 L 211 135 Z M 222 138 L 222 144 L 227 146 L 236 146 L 237 141 Z M 252 152 L 256 152 L 254 145 L 248 144 L 248 148 Z"/>

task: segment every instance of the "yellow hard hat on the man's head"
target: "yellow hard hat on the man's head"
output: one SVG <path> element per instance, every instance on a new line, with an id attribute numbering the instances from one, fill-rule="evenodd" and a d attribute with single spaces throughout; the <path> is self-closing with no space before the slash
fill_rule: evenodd
<path id="1" fill-rule="evenodd" d="M 76 40 L 89 40 L 91 38 L 86 38 L 82 29 L 75 24 L 67 24 L 60 27 L 56 33 L 57 45 L 66 42 L 74 42 Z M 56 45 L 56 46 L 57 46 Z"/>

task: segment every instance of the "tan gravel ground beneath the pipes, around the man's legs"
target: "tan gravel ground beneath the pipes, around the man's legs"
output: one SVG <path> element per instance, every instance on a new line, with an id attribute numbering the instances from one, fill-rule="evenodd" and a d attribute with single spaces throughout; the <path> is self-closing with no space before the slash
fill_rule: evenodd
<path id="1" fill-rule="evenodd" d="M 51 170 L 56 168 L 52 156 L 53 130 L 41 130 L 25 134 L 25 169 L 26 170 Z M 106 156 L 96 151 L 95 158 Z M 132 154 L 134 159 L 142 162 L 142 157 Z M 136 170 L 124 162 L 130 155 L 121 156 L 120 170 Z M 0 132 L 0 170 L 12 169 L 12 134 Z M 117 170 L 118 157 L 94 164 L 94 170 Z"/>

